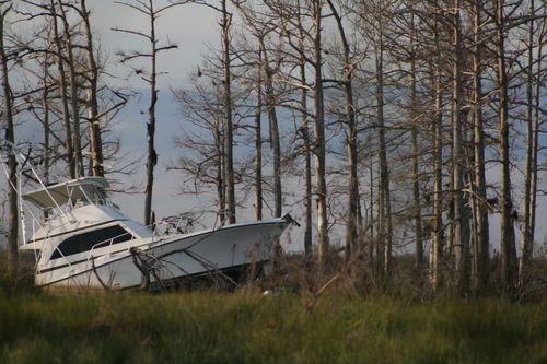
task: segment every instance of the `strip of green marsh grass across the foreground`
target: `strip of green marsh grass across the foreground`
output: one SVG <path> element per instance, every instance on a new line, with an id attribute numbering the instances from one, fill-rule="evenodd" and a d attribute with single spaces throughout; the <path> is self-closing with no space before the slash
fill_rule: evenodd
<path id="1" fill-rule="evenodd" d="M 0 363 L 547 363 L 547 303 L 0 291 Z"/>

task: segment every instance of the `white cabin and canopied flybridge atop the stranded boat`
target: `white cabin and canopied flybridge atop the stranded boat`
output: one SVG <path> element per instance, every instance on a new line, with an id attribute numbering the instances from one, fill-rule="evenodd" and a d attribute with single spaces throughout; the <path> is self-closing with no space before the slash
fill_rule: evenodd
<path id="1" fill-rule="evenodd" d="M 107 197 L 108 187 L 103 177 L 83 177 L 25 193 L 42 221 L 20 249 L 42 250 L 53 260 L 151 237 L 149 228 L 119 212 Z"/>

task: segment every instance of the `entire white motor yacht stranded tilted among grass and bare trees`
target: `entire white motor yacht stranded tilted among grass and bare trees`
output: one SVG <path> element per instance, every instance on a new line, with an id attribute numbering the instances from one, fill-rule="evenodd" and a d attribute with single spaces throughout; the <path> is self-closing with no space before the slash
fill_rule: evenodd
<path id="1" fill-rule="evenodd" d="M 287 215 L 190 232 L 179 215 L 160 231 L 123 214 L 108 187 L 103 177 L 83 177 L 21 196 L 22 206 L 35 207 L 31 237 L 20 249 L 35 253 L 38 286 L 55 293 L 158 290 L 267 261 L 293 222 Z"/>

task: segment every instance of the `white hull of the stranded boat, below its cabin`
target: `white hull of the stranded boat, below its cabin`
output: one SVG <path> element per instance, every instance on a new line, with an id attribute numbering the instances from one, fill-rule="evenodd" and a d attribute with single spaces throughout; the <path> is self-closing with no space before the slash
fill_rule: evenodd
<path id="1" fill-rule="evenodd" d="M 38 267 L 36 283 L 54 293 L 137 289 L 147 281 L 147 274 L 136 265 L 142 266 L 142 258 L 150 265 L 148 289 L 159 289 L 186 277 L 266 261 L 288 224 L 280 219 L 133 239 L 73 256 L 71 262 L 61 261 L 65 258 L 50 260 Z"/>

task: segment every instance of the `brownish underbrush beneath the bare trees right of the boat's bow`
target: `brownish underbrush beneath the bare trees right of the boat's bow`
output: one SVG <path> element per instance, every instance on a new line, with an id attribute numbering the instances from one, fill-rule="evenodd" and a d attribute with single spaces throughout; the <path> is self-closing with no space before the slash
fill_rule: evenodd
<path id="1" fill-rule="evenodd" d="M 325 291 L 348 297 L 389 296 L 409 302 L 438 302 L 455 298 L 497 298 L 526 303 L 547 298 L 547 256 L 535 257 L 526 269 L 524 282 L 509 290 L 500 281 L 501 268 L 497 257 L 491 258 L 488 267 L 488 282 L 462 294 L 457 290 L 453 262 L 443 262 L 442 283 L 435 286 L 428 266 L 417 267 L 411 255 L 393 257 L 389 274 L 383 267 L 374 266 L 368 259 L 344 260 L 331 254 L 326 265 L 317 263 L 316 256 L 288 255 L 278 267 L 264 279 L 247 281 L 263 291 L 283 289 L 309 295 L 321 295 Z"/>

